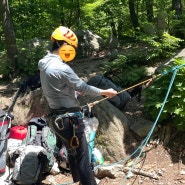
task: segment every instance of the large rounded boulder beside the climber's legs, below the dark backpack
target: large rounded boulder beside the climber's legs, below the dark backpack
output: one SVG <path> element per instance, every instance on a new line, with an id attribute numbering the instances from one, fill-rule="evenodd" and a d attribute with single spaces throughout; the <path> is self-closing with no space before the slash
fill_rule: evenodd
<path id="1" fill-rule="evenodd" d="M 81 105 L 101 100 L 102 97 L 80 97 Z M 119 161 L 126 157 L 124 138 L 128 131 L 126 116 L 108 100 L 96 104 L 92 111 L 99 120 L 95 146 L 100 149 L 105 160 Z"/>

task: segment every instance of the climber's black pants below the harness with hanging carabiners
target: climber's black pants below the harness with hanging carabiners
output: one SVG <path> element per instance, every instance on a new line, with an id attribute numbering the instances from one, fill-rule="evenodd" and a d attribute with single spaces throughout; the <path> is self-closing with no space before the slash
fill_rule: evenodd
<path id="1" fill-rule="evenodd" d="M 93 171 L 89 162 L 88 143 L 84 133 L 84 123 L 78 125 L 75 135 L 79 140 L 79 147 L 72 149 L 69 146 L 71 137 L 73 136 L 73 126 L 69 123 L 69 119 L 64 119 L 64 128 L 59 130 L 55 123 L 55 116 L 50 116 L 49 126 L 61 138 L 63 144 L 68 151 L 68 160 L 74 182 L 80 181 L 82 185 L 97 185 Z"/>

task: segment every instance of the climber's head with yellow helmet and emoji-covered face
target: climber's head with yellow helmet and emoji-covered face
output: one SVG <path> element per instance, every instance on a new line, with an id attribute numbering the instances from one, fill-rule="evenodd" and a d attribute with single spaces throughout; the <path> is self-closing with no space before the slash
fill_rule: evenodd
<path id="1" fill-rule="evenodd" d="M 75 58 L 78 39 L 72 30 L 59 26 L 53 31 L 51 40 L 53 41 L 52 51 L 59 49 L 58 54 L 63 61 L 69 62 Z"/>

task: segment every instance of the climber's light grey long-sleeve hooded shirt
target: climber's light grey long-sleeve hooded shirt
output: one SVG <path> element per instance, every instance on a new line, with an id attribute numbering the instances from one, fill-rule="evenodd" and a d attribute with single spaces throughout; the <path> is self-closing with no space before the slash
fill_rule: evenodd
<path id="1" fill-rule="evenodd" d="M 90 96 L 100 96 L 100 89 L 87 85 L 60 56 L 48 53 L 38 63 L 43 93 L 49 107 L 80 107 L 76 91 Z"/>

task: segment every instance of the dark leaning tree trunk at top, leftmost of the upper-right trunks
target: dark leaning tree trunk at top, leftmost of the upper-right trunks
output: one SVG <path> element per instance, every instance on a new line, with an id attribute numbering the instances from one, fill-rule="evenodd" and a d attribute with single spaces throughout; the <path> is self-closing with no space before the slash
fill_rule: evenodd
<path id="1" fill-rule="evenodd" d="M 135 30 L 139 27 L 138 16 L 135 11 L 135 0 L 129 0 L 129 10 L 132 25 Z"/>

